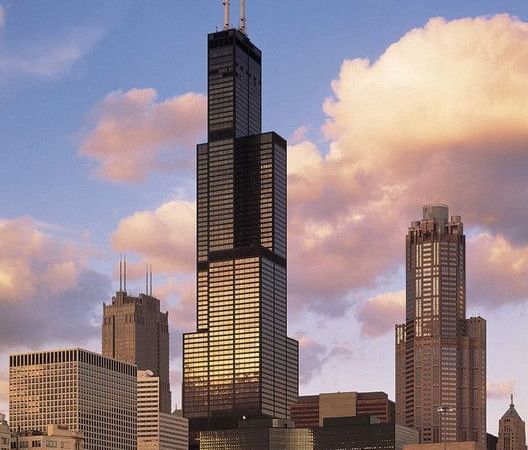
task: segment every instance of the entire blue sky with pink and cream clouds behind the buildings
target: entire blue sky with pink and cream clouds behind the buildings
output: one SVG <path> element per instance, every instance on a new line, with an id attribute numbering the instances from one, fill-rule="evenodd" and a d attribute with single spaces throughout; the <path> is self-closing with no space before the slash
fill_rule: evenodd
<path id="1" fill-rule="evenodd" d="M 233 22 L 238 8 L 234 5 Z M 528 417 L 528 3 L 249 0 L 264 129 L 289 141 L 289 334 L 301 394 L 394 397 L 404 242 L 462 216 L 468 315 L 488 326 L 488 430 Z M 0 0 L 0 410 L 7 355 L 100 349 L 102 303 L 153 265 L 195 329 L 195 144 L 219 0 Z"/>

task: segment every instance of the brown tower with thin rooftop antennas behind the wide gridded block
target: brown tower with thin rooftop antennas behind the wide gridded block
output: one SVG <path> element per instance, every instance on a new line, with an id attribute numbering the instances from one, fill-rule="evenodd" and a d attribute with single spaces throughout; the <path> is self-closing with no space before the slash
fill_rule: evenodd
<path id="1" fill-rule="evenodd" d="M 103 304 L 103 355 L 150 370 L 160 378 L 161 411 L 171 412 L 169 381 L 169 314 L 152 295 L 128 295 L 120 289 L 112 304 Z"/>

